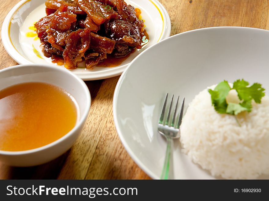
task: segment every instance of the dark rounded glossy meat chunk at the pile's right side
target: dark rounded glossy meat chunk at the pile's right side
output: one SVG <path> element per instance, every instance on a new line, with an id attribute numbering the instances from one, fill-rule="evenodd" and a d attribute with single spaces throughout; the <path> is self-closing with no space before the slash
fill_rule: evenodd
<path id="1" fill-rule="evenodd" d="M 109 21 L 105 24 L 106 34 L 117 43 L 141 49 L 138 27 L 123 20 Z"/>

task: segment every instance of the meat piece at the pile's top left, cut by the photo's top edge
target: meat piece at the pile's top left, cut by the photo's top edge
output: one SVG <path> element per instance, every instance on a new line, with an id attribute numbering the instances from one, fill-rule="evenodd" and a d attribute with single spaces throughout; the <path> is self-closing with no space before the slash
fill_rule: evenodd
<path id="1" fill-rule="evenodd" d="M 59 9 L 61 6 L 66 6 L 68 12 L 86 15 L 86 13 L 79 8 L 77 2 L 72 0 L 47 0 L 45 5 L 48 9 L 54 10 Z"/>

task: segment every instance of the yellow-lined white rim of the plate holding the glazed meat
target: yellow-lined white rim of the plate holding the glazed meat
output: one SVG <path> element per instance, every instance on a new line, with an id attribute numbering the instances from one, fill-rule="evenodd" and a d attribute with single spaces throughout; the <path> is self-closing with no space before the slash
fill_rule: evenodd
<path id="1" fill-rule="evenodd" d="M 22 6 L 24 3 L 28 2 L 29 0 L 22 0 L 18 2 L 6 15 L 5 20 L 2 24 L 2 30 L 1 30 L 1 37 L 2 37 L 2 43 L 4 45 L 5 50 L 9 54 L 11 58 L 13 58 L 17 63 L 21 65 L 28 65 L 28 64 L 35 64 L 25 58 L 23 55 L 21 55 L 13 46 L 11 43 L 11 39 L 9 39 L 9 21 L 15 14 L 15 12 Z M 162 13 L 164 17 L 164 32 L 161 34 L 160 39 L 158 40 L 157 43 L 162 41 L 163 39 L 166 39 L 170 36 L 171 34 L 171 19 L 168 15 L 167 10 L 164 8 L 164 6 L 158 1 L 158 0 L 150 0 L 158 6 L 157 8 L 159 9 L 160 13 Z M 154 44 L 155 45 L 155 44 Z M 141 53 L 140 53 L 141 54 Z M 129 63 L 130 64 L 130 63 Z M 123 71 L 127 68 L 129 64 L 125 64 L 122 66 L 118 66 L 115 68 L 109 68 L 101 71 L 96 71 L 96 72 L 87 72 L 87 73 L 74 73 L 76 76 L 79 76 L 79 78 L 87 81 L 87 80 L 101 80 L 101 79 L 106 79 L 106 78 L 111 78 L 115 76 L 119 76 L 123 73 Z M 51 65 L 54 66 L 53 64 L 46 64 L 46 65 Z M 90 73 L 90 76 L 88 75 Z"/>

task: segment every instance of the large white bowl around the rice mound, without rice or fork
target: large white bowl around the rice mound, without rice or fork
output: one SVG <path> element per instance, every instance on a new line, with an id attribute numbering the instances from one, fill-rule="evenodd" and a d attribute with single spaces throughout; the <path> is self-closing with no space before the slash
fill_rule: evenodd
<path id="1" fill-rule="evenodd" d="M 160 178 L 166 142 L 157 123 L 167 92 L 185 96 L 187 106 L 208 86 L 244 78 L 261 83 L 269 93 L 268 54 L 269 31 L 242 27 L 181 33 L 140 54 L 120 77 L 113 99 L 115 125 L 133 160 L 150 177 Z M 215 179 L 180 149 L 177 140 L 176 179 Z"/>

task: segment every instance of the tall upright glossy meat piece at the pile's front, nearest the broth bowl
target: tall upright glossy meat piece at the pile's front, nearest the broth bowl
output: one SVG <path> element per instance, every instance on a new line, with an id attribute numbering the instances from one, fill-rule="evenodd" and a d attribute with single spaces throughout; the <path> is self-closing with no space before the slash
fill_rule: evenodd
<path id="1" fill-rule="evenodd" d="M 68 35 L 63 53 L 65 68 L 76 69 L 77 64 L 83 61 L 82 58 L 90 47 L 90 34 L 89 29 L 78 29 Z"/>

